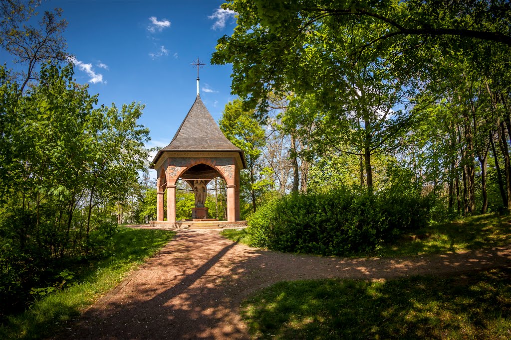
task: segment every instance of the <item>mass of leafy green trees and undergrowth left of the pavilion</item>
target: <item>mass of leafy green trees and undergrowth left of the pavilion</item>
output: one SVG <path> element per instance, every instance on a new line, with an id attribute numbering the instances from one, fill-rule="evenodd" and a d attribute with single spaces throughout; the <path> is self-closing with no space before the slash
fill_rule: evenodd
<path id="1" fill-rule="evenodd" d="M 53 286 L 68 262 L 103 252 L 145 167 L 143 106 L 95 109 L 73 74 L 46 64 L 20 93 L 0 67 L 0 315 Z"/>

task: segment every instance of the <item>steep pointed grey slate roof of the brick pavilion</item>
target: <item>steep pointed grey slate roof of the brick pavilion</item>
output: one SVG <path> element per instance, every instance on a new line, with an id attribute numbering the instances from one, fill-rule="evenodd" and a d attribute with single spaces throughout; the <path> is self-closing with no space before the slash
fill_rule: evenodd
<path id="1" fill-rule="evenodd" d="M 169 145 L 158 151 L 153 164 L 156 164 L 164 151 L 237 151 L 245 164 L 243 151 L 224 136 L 199 94 L 174 138 Z"/>

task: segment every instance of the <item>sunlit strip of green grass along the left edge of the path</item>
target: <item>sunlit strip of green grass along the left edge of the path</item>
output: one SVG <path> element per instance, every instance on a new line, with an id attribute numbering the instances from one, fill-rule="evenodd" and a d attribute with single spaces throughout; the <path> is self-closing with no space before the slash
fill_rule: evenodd
<path id="1" fill-rule="evenodd" d="M 104 250 L 106 258 L 91 264 L 80 282 L 37 299 L 22 313 L 7 316 L 0 324 L 0 338 L 31 339 L 54 334 L 167 244 L 174 234 L 167 230 L 120 228 Z"/>

